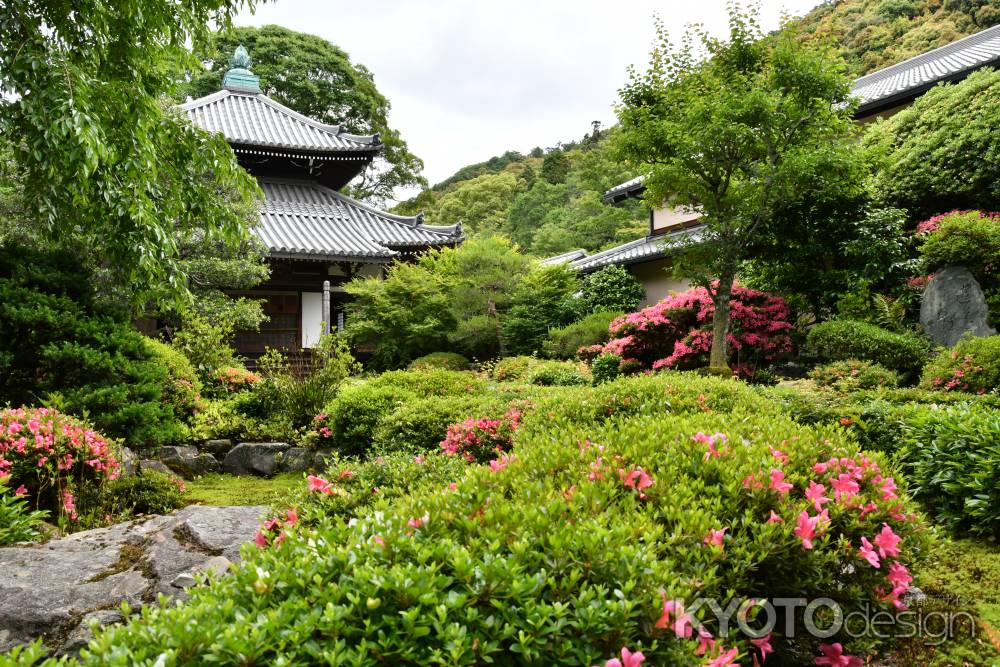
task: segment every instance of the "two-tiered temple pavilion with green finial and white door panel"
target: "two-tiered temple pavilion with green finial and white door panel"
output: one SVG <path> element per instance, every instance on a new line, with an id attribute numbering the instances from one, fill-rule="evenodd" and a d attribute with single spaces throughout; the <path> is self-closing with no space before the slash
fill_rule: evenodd
<path id="1" fill-rule="evenodd" d="M 312 347 L 324 330 L 343 327 L 344 283 L 453 246 L 463 234 L 460 224 L 425 225 L 422 215 L 393 215 L 341 193 L 382 150 L 379 135 L 350 134 L 272 100 L 242 46 L 229 66 L 221 90 L 180 110 L 222 134 L 264 192 L 253 233 L 267 247 L 271 277 L 233 294 L 264 302 L 268 321 L 258 332 L 239 332 L 235 341 L 238 354 L 254 359 L 267 347 Z"/>

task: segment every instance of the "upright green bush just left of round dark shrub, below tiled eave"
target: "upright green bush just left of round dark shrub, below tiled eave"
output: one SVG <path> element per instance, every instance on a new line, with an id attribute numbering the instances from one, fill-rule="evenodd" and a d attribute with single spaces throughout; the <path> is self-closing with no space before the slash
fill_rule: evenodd
<path id="1" fill-rule="evenodd" d="M 541 351 L 550 329 L 573 321 L 573 295 L 579 287 L 576 272 L 565 265 L 535 266 L 511 297 L 503 322 L 504 352 L 523 355 Z"/>

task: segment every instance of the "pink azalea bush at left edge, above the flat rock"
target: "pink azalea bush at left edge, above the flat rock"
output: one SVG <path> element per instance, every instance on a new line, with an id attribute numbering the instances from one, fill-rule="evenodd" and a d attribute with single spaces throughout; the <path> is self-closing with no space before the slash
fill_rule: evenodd
<path id="1" fill-rule="evenodd" d="M 0 410 L 0 478 L 35 507 L 76 521 L 76 494 L 118 476 L 104 437 L 48 408 Z"/>

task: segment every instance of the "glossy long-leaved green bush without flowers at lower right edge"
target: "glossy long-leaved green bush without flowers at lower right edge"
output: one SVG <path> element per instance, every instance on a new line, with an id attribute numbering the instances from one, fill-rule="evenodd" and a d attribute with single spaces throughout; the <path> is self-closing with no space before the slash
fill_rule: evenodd
<path id="1" fill-rule="evenodd" d="M 907 425 L 899 456 L 938 523 L 1000 537 L 1000 411 L 928 412 Z"/>

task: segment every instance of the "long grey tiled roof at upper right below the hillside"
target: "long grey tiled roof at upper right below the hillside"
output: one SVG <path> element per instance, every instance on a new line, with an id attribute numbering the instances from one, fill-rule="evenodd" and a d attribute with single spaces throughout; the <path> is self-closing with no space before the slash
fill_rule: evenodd
<path id="1" fill-rule="evenodd" d="M 863 116 L 913 99 L 941 81 L 953 81 L 973 70 L 1000 64 L 1000 25 L 855 80 Z"/>

